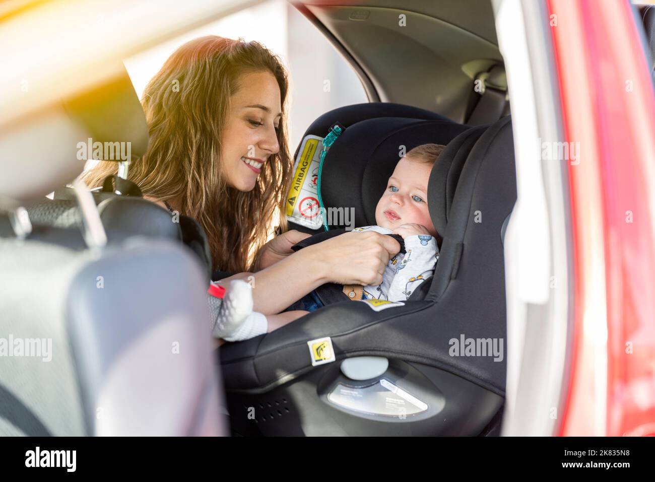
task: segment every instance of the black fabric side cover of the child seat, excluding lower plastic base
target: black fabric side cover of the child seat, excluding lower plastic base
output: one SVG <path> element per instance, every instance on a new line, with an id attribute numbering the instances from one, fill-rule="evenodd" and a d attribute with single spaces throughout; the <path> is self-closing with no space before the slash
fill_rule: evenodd
<path id="1" fill-rule="evenodd" d="M 421 363 L 504 396 L 505 358 L 452 356 L 449 340 L 506 341 L 504 254 L 498 232 L 515 200 L 512 124 L 505 118 L 485 130 L 466 159 L 424 300 L 381 312 L 366 303 L 336 303 L 263 337 L 222 346 L 225 386 L 264 393 L 292 382 L 316 369 L 307 341 L 329 336 L 337 361 L 386 356 Z M 481 223 L 475 221 L 477 210 Z"/>

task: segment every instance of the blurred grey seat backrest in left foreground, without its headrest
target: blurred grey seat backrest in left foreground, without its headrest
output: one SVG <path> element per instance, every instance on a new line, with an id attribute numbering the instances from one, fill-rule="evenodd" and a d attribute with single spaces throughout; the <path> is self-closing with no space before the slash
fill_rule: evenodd
<path id="1" fill-rule="evenodd" d="M 0 358 L 0 435 L 221 434 L 191 254 L 145 238 L 100 257 L 3 238 L 0 267 L 0 337 L 51 343 Z"/>

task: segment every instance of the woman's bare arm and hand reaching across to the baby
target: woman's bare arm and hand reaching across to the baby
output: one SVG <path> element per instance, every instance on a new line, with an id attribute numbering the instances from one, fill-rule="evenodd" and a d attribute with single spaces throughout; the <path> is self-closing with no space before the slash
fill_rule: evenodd
<path id="1" fill-rule="evenodd" d="M 378 232 L 346 232 L 307 246 L 256 273 L 221 280 L 245 280 L 253 287 L 253 310 L 276 314 L 322 284 L 380 284 L 400 244 Z"/>

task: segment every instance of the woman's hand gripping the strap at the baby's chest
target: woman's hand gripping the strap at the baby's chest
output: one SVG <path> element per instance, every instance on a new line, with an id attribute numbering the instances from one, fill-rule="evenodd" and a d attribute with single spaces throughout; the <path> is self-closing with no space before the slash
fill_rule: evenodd
<path id="1" fill-rule="evenodd" d="M 346 232 L 299 253 L 322 263 L 325 282 L 377 285 L 382 282 L 389 259 L 400 252 L 394 238 L 379 232 Z"/>

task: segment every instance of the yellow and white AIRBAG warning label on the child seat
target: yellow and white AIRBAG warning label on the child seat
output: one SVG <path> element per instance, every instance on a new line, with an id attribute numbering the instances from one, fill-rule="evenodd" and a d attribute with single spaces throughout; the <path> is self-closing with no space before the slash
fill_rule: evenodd
<path id="1" fill-rule="evenodd" d="M 323 139 L 306 136 L 293 166 L 293 181 L 287 196 L 287 220 L 310 229 L 323 225 L 318 206 L 318 165 L 323 151 Z"/>

